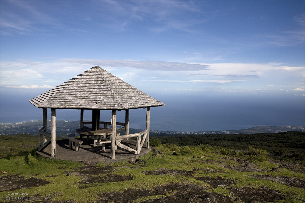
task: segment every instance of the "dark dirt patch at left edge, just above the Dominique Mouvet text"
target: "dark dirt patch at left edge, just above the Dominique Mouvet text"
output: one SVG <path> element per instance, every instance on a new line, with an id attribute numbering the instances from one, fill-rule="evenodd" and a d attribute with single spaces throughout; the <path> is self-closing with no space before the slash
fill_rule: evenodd
<path id="1" fill-rule="evenodd" d="M 0 178 L 0 191 L 13 191 L 20 189 L 29 189 L 33 187 L 39 187 L 45 184 L 50 183 L 48 180 L 40 178 L 28 178 L 25 179 L 24 176 L 16 175 L 7 175 Z"/>

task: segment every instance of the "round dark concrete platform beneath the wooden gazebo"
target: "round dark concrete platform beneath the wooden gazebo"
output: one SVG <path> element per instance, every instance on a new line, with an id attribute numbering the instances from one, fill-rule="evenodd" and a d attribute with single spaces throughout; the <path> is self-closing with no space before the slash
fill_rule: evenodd
<path id="1" fill-rule="evenodd" d="M 56 154 L 55 157 L 51 157 L 51 145 L 48 145 L 42 151 L 36 153 L 40 156 L 49 158 L 49 159 L 63 159 L 69 161 L 77 161 L 85 163 L 86 165 L 95 165 L 98 162 L 104 162 L 105 164 L 120 162 L 123 160 L 129 161 L 130 159 L 137 159 L 139 156 L 144 156 L 150 152 L 149 149 L 146 149 L 143 145 L 140 154 L 133 154 L 125 149 L 117 147 L 115 152 L 115 159 L 111 159 L 111 143 L 106 144 L 105 152 L 102 152 L 102 145 L 97 145 L 93 147 L 93 138 L 90 138 L 89 144 L 86 143 L 86 138 L 83 138 L 84 142 L 82 145 L 79 145 L 79 151 L 75 152 L 75 146 L 73 150 L 69 149 L 69 139 L 58 140 L 56 141 Z M 92 143 L 92 144 L 91 144 Z M 132 149 L 136 148 L 135 140 L 122 140 L 122 144 L 131 147 Z"/>

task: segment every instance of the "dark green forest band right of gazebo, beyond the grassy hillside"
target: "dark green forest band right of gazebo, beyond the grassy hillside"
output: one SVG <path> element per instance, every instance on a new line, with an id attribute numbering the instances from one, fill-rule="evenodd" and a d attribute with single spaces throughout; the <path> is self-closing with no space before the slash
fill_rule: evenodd
<path id="1" fill-rule="evenodd" d="M 219 149 L 228 148 L 238 151 L 248 151 L 249 146 L 264 149 L 273 159 L 301 161 L 304 163 L 304 132 L 288 131 L 280 133 L 256 133 L 251 135 L 171 135 L 155 136 L 161 144 L 179 146 L 211 145 Z M 152 145 L 156 143 L 152 140 Z"/>

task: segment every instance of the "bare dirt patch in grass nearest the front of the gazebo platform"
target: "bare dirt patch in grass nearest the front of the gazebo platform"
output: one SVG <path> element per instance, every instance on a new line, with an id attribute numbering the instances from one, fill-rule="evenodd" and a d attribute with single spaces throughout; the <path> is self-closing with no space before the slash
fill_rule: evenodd
<path id="1" fill-rule="evenodd" d="M 99 166 L 84 166 L 79 167 L 75 171 L 65 171 L 67 176 L 75 175 L 75 176 L 95 176 L 99 174 L 106 174 L 117 171 L 118 169 L 113 169 L 113 167 L 99 167 Z"/>

